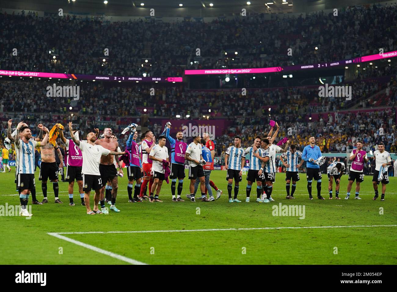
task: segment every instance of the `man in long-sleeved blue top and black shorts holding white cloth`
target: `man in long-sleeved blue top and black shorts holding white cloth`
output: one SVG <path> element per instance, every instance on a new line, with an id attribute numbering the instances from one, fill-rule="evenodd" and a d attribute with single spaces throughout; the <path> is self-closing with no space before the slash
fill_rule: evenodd
<path id="1" fill-rule="evenodd" d="M 302 159 L 306 161 L 306 178 L 307 191 L 309 192 L 309 199 L 312 200 L 312 181 L 313 178 L 317 181 L 317 199 L 324 200 L 321 196 L 321 171 L 320 165 L 324 164 L 325 157 L 322 156 L 320 147 L 315 145 L 316 139 L 314 136 L 309 137 L 309 145 L 304 147 L 302 152 Z"/>

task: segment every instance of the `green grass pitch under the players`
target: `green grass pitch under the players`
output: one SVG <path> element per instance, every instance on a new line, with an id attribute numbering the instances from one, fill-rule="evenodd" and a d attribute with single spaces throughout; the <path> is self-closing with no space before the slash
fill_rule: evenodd
<path id="1" fill-rule="evenodd" d="M 15 195 L 14 170 L 0 173 L 0 205 L 19 205 L 19 197 Z M 39 171 L 36 172 L 36 188 L 37 198 L 41 201 L 38 175 Z M 374 191 L 370 176 L 366 176 L 361 184 L 362 200 L 353 199 L 354 195 L 349 200 L 343 199 L 347 186 L 347 176 L 343 176 L 341 200 L 317 200 L 314 184 L 314 200 L 309 201 L 304 176 L 301 175 L 297 183 L 296 199 L 286 200 L 285 174 L 277 174 L 272 193 L 276 201 L 265 204 L 255 202 L 255 188 L 251 191 L 251 202 L 245 203 L 246 175 L 240 183 L 238 196 L 242 202 L 229 203 L 225 175 L 226 172 L 220 170 L 213 171 L 211 175 L 218 188 L 224 191 L 219 200 L 196 203 L 188 200 L 173 203 L 170 185 L 166 183 L 160 193 L 163 203 L 128 203 L 127 178 L 124 177 L 119 179 L 116 202 L 121 212 L 110 211 L 109 215 L 93 216 L 87 215 L 85 207 L 79 204 L 78 191 L 74 196 L 78 204 L 74 207 L 68 205 L 67 183 L 64 182 L 59 183 L 60 199 L 64 203 L 55 204 L 52 186 L 49 185 L 49 203 L 33 205 L 30 220 L 19 216 L 0 217 L 0 264 L 397 263 L 396 178 L 390 178 L 385 201 L 380 201 L 380 197 L 372 201 Z M 327 190 L 328 179 L 323 175 L 322 195 L 325 198 L 328 198 Z M 187 179 L 183 185 L 184 199 L 186 193 L 189 193 Z M 279 203 L 304 205 L 305 218 L 273 216 L 272 206 Z M 383 214 L 380 214 L 381 207 Z M 320 226 L 342 227 L 303 228 Z M 71 233 L 59 235 L 60 232 Z"/>

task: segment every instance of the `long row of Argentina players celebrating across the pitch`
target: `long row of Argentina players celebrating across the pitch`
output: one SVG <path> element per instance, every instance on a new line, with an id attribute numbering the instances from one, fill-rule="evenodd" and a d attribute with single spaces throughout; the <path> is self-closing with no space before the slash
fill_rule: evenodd
<path id="1" fill-rule="evenodd" d="M 214 170 L 215 148 L 214 142 L 210 140 L 208 133 L 196 135 L 189 145 L 183 141 L 182 131 L 178 131 L 174 139 L 170 136 L 171 123 L 168 122 L 156 144 L 156 137 L 148 130 L 140 137 L 137 143 L 137 124 L 130 124 L 122 132 L 129 133 L 125 151 L 121 151 L 118 138 L 113 134 L 111 128 L 105 128 L 102 136 L 98 139 L 99 129 L 89 132 L 85 140 L 80 140 L 79 131 L 72 127 L 69 122 L 71 139 L 64 136 L 64 127 L 56 124 L 51 130 L 38 125 L 40 133 L 33 139 L 31 130 L 24 122 L 20 122 L 16 130 L 11 133 L 12 120 L 8 121 L 8 144 L 15 145 L 15 184 L 21 202 L 22 216 L 31 216 L 26 209 L 29 195 L 32 196 L 32 204 L 42 205 L 48 203 L 47 182 L 52 182 L 55 203 L 60 201 L 58 186 L 58 171 L 66 166 L 66 181 L 69 182 L 69 205 L 74 206 L 73 189 L 77 182 L 81 205 L 87 209 L 87 214 L 109 213 L 105 203 L 110 205 L 110 210 L 120 212 L 116 207 L 118 193 L 118 177 L 123 177 L 123 163 L 127 168 L 127 192 L 130 203 L 139 203 L 145 200 L 150 203 L 162 202 L 159 198 L 163 181 L 171 182 L 171 193 L 173 202 L 183 202 L 181 193 L 183 180 L 185 178 L 185 161 L 189 166 L 189 190 L 186 195 L 191 202 L 195 202 L 195 195 L 200 185 L 202 201 L 215 201 L 222 195 L 222 190 L 210 180 Z M 247 174 L 247 188 L 245 199 L 250 201 L 252 185 L 256 182 L 256 202 L 269 203 L 272 198 L 273 184 L 276 180 L 276 153 L 281 154 L 281 162 L 286 167 L 286 199 L 295 199 L 296 184 L 300 180 L 299 168 L 306 162 L 306 178 L 309 199 L 312 200 L 312 182 L 316 181 L 317 198 L 321 196 L 322 174 L 320 166 L 326 161 L 322 156 L 320 147 L 315 145 L 314 136 L 309 137 L 309 145 L 304 147 L 303 152 L 296 149 L 295 145 L 289 146 L 287 137 L 281 139 L 277 145 L 274 140 L 278 136 L 279 125 L 270 121 L 271 129 L 266 137 L 255 137 L 251 147 L 241 147 L 241 137 L 234 138 L 234 145 L 230 146 L 225 153 L 225 170 L 227 170 L 227 192 L 230 203 L 239 203 L 239 183 L 242 181 L 245 157 L 249 157 L 249 170 Z M 273 134 L 274 128 L 276 131 Z M 273 134 L 273 135 L 272 135 Z M 62 157 L 60 138 L 65 145 L 65 155 Z M 166 147 L 169 141 L 171 159 Z M 368 161 L 366 151 L 362 150 L 362 141 L 357 142 L 357 149 L 351 152 L 349 157 L 351 167 L 349 171 L 349 183 L 345 199 L 349 199 L 353 183 L 356 181 L 355 199 L 360 199 L 360 183 L 364 180 L 364 163 Z M 43 200 L 39 202 L 36 197 L 35 186 L 35 149 L 41 151 L 41 165 L 39 180 L 42 184 Z M 386 184 L 389 182 L 387 166 L 391 165 L 390 154 L 384 150 L 384 144 L 378 143 L 378 150 L 373 153 L 376 168 L 372 178 L 376 200 L 378 184 L 382 183 L 381 200 L 384 201 Z M 59 159 L 57 162 L 57 158 Z M 299 159 L 301 160 L 299 162 Z M 4 167 L 5 168 L 5 167 Z M 345 170 L 343 162 L 332 162 L 327 169 L 329 199 L 333 198 L 333 181 L 335 181 L 335 199 L 339 198 L 340 180 Z M 176 191 L 176 182 L 178 186 Z M 232 186 L 234 180 L 234 196 L 232 199 Z M 135 181 L 135 187 L 134 187 Z M 291 186 L 292 181 L 292 186 Z M 216 191 L 216 196 L 212 193 Z M 149 191 L 147 191 L 147 189 Z M 89 196 L 94 191 L 94 207 L 91 209 Z M 149 192 L 149 195 L 147 195 Z M 208 193 L 208 196 L 207 196 Z M 176 195 L 175 195 L 176 194 Z M 100 206 L 100 209 L 99 207 Z"/>

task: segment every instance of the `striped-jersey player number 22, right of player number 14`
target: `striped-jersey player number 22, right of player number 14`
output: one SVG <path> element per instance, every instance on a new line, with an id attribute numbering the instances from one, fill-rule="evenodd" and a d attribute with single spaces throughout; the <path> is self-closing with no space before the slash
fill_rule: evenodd
<path id="1" fill-rule="evenodd" d="M 265 150 L 263 148 L 260 148 L 260 144 L 261 138 L 259 136 L 256 136 L 254 139 L 254 146 L 256 146 L 258 150 L 255 151 L 253 147 L 248 147 L 247 149 L 245 149 L 244 153 L 244 155 L 249 154 L 250 159 L 249 170 L 247 174 L 247 198 L 245 199 L 246 202 L 249 202 L 252 183 L 256 181 L 256 201 L 258 203 L 263 203 L 263 201 L 260 199 L 260 195 L 262 195 L 262 177 L 258 175 L 262 162 L 254 155 L 255 153 L 258 153 L 260 157 L 265 157 Z"/>

